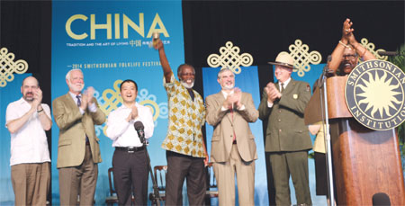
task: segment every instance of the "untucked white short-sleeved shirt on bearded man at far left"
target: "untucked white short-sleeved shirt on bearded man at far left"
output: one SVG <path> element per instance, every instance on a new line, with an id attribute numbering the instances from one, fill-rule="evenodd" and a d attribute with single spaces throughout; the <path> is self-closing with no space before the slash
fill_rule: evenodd
<path id="1" fill-rule="evenodd" d="M 49 106 L 45 103 L 40 105 L 43 112 L 51 119 Z M 27 103 L 22 97 L 20 100 L 8 104 L 5 112 L 5 122 L 14 121 L 30 110 L 31 104 Z M 5 127 L 7 127 L 7 123 Z M 50 162 L 48 139 L 45 130 L 40 124 L 38 112 L 34 112 L 20 130 L 11 134 L 10 151 L 10 166 L 23 163 Z"/>

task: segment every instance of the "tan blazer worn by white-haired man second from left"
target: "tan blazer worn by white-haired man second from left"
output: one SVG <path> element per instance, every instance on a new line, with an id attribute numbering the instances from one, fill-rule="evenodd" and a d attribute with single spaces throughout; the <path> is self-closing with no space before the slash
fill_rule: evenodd
<path id="1" fill-rule="evenodd" d="M 82 115 L 70 94 L 59 96 L 52 103 L 53 117 L 58 124 L 58 162 L 57 167 L 80 166 L 85 158 L 85 135 L 87 135 L 92 150 L 94 163 L 100 163 L 99 140 L 95 136 L 94 124 L 101 125 L 105 114 L 98 108 L 96 112 L 88 109 Z"/>

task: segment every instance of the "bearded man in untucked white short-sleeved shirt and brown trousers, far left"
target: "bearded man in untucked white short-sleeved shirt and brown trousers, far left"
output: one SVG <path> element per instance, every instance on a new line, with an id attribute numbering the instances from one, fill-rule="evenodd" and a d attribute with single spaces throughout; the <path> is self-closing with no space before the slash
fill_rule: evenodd
<path id="1" fill-rule="evenodd" d="M 35 77 L 21 87 L 23 97 L 8 104 L 5 119 L 11 133 L 11 175 L 15 205 L 45 205 L 50 183 L 50 158 L 45 130 L 52 121 Z"/>

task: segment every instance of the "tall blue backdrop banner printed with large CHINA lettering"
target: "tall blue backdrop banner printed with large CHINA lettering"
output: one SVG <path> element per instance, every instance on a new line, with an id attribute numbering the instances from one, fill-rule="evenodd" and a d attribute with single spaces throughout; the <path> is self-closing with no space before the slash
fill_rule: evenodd
<path id="1" fill-rule="evenodd" d="M 166 137 L 167 99 L 157 50 L 149 44 L 152 32 L 160 33 L 167 58 L 176 74 L 184 62 L 181 1 L 54 1 L 52 4 L 51 98 L 67 94 L 67 71 L 82 69 L 85 88 L 96 90 L 106 115 L 121 105 L 119 85 L 133 79 L 138 84 L 137 102 L 151 108 L 155 131 L 149 140 L 151 165 L 166 165 L 161 143 Z M 96 126 L 103 162 L 95 203 L 103 204 L 109 193 L 107 170 L 112 167 L 112 140 L 105 137 L 105 123 Z M 58 126 L 52 127 L 52 202 L 59 202 Z M 150 178 L 149 178 L 150 179 Z M 149 180 L 148 191 L 152 191 Z M 185 197 L 184 197 L 185 198 Z"/>

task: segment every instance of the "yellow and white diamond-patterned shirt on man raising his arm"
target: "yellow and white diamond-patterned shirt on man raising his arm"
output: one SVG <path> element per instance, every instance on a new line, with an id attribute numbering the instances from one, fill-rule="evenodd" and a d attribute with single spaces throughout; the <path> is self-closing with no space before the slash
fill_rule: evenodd
<path id="1" fill-rule="evenodd" d="M 163 78 L 163 85 L 167 93 L 169 120 L 162 148 L 187 156 L 205 157 L 201 130 L 205 107 L 201 95 L 193 90 L 193 101 L 173 73 L 170 83 Z"/>

